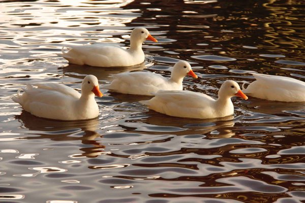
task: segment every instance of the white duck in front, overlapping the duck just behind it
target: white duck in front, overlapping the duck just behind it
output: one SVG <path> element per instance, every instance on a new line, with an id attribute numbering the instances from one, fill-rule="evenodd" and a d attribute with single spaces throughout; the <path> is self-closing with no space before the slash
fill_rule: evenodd
<path id="1" fill-rule="evenodd" d="M 232 80 L 227 80 L 222 84 L 218 96 L 218 99 L 215 100 L 199 92 L 160 90 L 155 97 L 140 101 L 140 103 L 147 105 L 151 110 L 169 116 L 210 119 L 233 115 L 232 96 L 248 99 L 238 84 Z"/>

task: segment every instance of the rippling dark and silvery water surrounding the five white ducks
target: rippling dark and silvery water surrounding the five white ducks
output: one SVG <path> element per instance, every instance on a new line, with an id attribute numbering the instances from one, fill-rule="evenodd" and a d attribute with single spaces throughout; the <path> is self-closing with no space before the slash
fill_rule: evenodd
<path id="1" fill-rule="evenodd" d="M 199 79 L 185 89 L 216 96 L 221 83 L 258 72 L 305 80 L 302 1 L 0 1 L 0 202 L 305 202 L 305 104 L 233 98 L 234 117 L 174 118 L 138 103 L 96 98 L 100 117 L 34 117 L 11 97 L 26 82 L 79 89 L 142 70 L 170 75 L 188 60 Z M 63 45 L 129 45 L 136 26 L 145 64 L 68 65 Z"/>

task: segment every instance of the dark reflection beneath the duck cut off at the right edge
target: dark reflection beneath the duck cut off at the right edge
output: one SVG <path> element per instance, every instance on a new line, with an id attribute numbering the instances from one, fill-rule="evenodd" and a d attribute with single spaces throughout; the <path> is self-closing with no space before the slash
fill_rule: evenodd
<path id="1" fill-rule="evenodd" d="M 305 102 L 269 101 L 265 99 L 250 97 L 246 108 L 249 111 L 253 111 L 257 113 L 275 115 L 275 114 L 283 114 L 286 111 L 304 110 Z"/>

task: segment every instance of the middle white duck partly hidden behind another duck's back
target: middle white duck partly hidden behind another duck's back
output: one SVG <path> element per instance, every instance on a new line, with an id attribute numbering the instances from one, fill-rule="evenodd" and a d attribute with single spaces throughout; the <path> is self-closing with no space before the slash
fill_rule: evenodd
<path id="1" fill-rule="evenodd" d="M 178 61 L 169 79 L 151 72 L 131 72 L 112 75 L 112 82 L 104 89 L 125 94 L 153 95 L 159 90 L 182 90 L 182 80 L 186 76 L 198 78 L 190 63 Z"/>

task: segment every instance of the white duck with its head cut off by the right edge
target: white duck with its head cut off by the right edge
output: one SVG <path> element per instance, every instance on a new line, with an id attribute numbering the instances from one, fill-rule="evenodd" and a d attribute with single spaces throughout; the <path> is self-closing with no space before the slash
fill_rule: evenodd
<path id="1" fill-rule="evenodd" d="M 305 82 L 284 76 L 252 73 L 256 81 L 242 84 L 242 91 L 249 96 L 273 101 L 305 101 Z"/>

